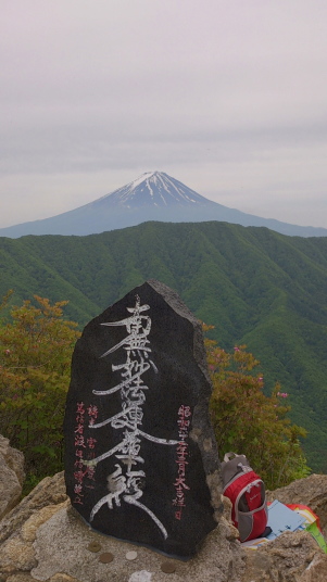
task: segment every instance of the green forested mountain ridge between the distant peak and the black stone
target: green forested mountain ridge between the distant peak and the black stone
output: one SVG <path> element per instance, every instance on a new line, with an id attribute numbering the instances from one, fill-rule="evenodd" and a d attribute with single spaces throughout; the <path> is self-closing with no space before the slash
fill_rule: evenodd
<path id="1" fill-rule="evenodd" d="M 225 223 L 146 223 L 88 237 L 0 239 L 0 292 L 68 300 L 84 326 L 149 278 L 215 326 L 226 350 L 246 343 L 266 390 L 280 381 L 309 430 L 309 464 L 327 472 L 327 238 Z"/>

